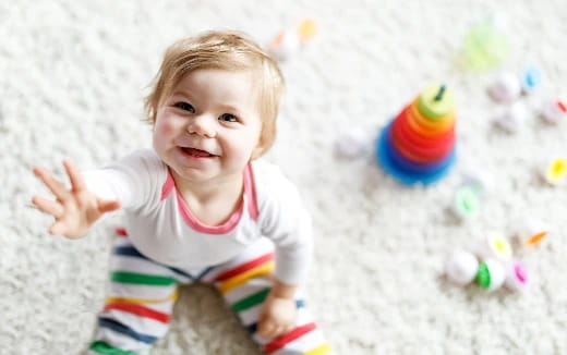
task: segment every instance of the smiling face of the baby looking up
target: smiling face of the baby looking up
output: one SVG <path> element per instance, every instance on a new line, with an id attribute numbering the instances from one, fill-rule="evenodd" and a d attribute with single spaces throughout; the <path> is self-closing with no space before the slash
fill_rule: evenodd
<path id="1" fill-rule="evenodd" d="M 197 70 L 157 110 L 154 148 L 181 179 L 241 176 L 258 147 L 262 121 L 253 73 Z"/>

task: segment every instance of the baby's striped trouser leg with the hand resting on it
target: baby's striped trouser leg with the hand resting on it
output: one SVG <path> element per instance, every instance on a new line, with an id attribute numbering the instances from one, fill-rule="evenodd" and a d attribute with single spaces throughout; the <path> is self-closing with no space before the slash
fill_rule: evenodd
<path id="1" fill-rule="evenodd" d="M 233 260 L 217 267 L 206 281 L 215 283 L 264 354 L 330 354 L 330 347 L 305 307 L 301 292 L 295 295 L 298 318 L 294 328 L 276 339 L 265 340 L 257 335 L 260 310 L 273 285 L 273 246 L 266 238 Z"/>

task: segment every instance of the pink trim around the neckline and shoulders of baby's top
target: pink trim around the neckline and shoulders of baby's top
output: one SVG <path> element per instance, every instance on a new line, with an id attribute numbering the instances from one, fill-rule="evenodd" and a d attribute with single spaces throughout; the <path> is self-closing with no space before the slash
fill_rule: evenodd
<path id="1" fill-rule="evenodd" d="M 246 164 L 246 168 L 244 169 L 244 197 L 242 203 L 240 204 L 240 207 L 238 208 L 232 216 L 222 224 L 220 225 L 208 225 L 203 222 L 201 222 L 191 211 L 189 208 L 186 201 L 183 199 L 183 196 L 181 196 L 181 193 L 176 188 L 176 182 L 173 181 L 173 176 L 171 175 L 171 172 L 168 169 L 167 172 L 167 179 L 161 187 L 161 200 L 166 199 L 171 191 L 176 191 L 176 198 L 179 206 L 179 211 L 181 213 L 181 217 L 188 223 L 189 227 L 194 229 L 197 232 L 207 233 L 207 234 L 226 234 L 230 231 L 232 231 L 237 224 L 240 222 L 240 219 L 242 218 L 242 213 L 244 211 L 244 205 L 248 206 L 248 211 L 250 217 L 253 220 L 257 220 L 258 218 L 258 209 L 256 204 L 256 191 L 254 186 L 254 176 L 252 173 L 252 168 L 249 164 Z"/>

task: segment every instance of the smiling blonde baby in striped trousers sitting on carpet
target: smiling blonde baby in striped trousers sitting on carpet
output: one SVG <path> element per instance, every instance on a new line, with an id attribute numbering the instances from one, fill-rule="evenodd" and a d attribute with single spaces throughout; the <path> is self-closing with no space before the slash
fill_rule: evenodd
<path id="1" fill-rule="evenodd" d="M 89 354 L 147 354 L 169 328 L 178 285 L 214 285 L 264 354 L 328 354 L 297 292 L 312 254 L 311 220 L 294 186 L 260 158 L 274 143 L 284 78 L 239 33 L 210 32 L 166 52 L 145 107 L 153 149 L 80 172 L 70 187 L 34 173 L 56 200 L 49 233 L 82 237 L 124 209 L 109 295 Z"/>

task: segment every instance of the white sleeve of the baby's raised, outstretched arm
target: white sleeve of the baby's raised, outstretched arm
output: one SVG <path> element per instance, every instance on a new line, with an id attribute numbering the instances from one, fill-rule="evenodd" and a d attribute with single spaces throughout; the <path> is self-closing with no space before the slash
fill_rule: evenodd
<path id="1" fill-rule="evenodd" d="M 137 150 L 116 163 L 83 172 L 87 189 L 107 200 L 119 200 L 122 208 L 144 207 L 159 192 L 162 162 L 152 150 Z M 162 183 L 162 182 L 161 182 Z"/>

